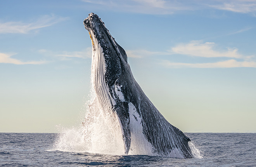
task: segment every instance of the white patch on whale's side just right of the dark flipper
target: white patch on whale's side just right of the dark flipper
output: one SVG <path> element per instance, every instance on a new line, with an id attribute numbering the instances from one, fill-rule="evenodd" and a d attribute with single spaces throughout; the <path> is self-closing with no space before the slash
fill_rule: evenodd
<path id="1" fill-rule="evenodd" d="M 129 128 L 131 131 L 131 147 L 129 154 L 156 156 L 157 154 L 153 153 L 152 151 L 152 145 L 147 141 L 143 133 L 141 116 L 138 114 L 135 106 L 132 103 L 129 103 L 128 106 L 130 115 Z"/>

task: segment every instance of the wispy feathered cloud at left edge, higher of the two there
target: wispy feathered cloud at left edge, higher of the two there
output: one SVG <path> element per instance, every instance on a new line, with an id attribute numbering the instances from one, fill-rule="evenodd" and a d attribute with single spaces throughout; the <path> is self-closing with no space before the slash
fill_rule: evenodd
<path id="1" fill-rule="evenodd" d="M 67 17 L 57 17 L 54 15 L 45 15 L 38 20 L 30 23 L 24 22 L 0 22 L 0 34 L 15 33 L 15 34 L 27 34 L 32 30 L 38 30 L 43 27 L 49 27 L 58 22 L 66 20 Z"/>

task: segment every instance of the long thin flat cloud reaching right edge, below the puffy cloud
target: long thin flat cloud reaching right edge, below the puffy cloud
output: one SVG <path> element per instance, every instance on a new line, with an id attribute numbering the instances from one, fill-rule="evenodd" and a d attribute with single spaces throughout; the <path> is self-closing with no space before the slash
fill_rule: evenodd
<path id="1" fill-rule="evenodd" d="M 211 63 L 181 63 L 181 62 L 170 62 L 168 60 L 164 60 L 161 63 L 162 66 L 167 68 L 232 68 L 232 67 L 254 67 L 256 68 L 255 61 L 236 61 L 234 59 L 230 59 L 227 61 L 220 62 L 211 62 Z"/>

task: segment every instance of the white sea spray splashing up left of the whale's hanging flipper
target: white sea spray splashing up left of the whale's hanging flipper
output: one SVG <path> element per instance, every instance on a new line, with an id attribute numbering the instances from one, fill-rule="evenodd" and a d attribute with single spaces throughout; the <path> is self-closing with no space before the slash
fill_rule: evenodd
<path id="1" fill-rule="evenodd" d="M 93 92 L 90 93 L 94 95 Z M 97 99 L 86 108 L 85 121 L 81 126 L 61 128 L 53 150 L 92 152 L 98 154 L 124 154 L 121 130 L 117 119 L 99 108 Z M 107 112 L 110 113 L 110 112 Z"/>

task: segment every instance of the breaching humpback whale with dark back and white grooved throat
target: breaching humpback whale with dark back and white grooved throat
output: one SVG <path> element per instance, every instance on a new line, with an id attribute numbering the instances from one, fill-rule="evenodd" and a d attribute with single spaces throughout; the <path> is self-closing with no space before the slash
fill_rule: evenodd
<path id="1" fill-rule="evenodd" d="M 118 120 L 125 154 L 142 136 L 160 156 L 192 158 L 190 139 L 171 125 L 133 78 L 125 50 L 94 13 L 84 20 L 92 40 L 92 84 L 99 107 Z M 140 137 L 141 138 L 141 137 Z M 141 139 L 140 139 L 141 140 Z"/>

